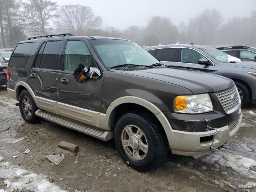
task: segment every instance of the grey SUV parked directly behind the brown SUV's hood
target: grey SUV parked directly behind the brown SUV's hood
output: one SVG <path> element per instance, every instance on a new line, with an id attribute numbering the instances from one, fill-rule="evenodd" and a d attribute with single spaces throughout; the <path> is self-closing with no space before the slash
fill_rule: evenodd
<path id="1" fill-rule="evenodd" d="M 250 101 L 256 104 L 256 64 L 254 62 L 236 62 L 236 58 L 205 45 L 170 44 L 145 49 L 165 65 L 228 77 L 234 80 L 243 106 Z M 204 82 L 204 79 L 201 80 Z"/>

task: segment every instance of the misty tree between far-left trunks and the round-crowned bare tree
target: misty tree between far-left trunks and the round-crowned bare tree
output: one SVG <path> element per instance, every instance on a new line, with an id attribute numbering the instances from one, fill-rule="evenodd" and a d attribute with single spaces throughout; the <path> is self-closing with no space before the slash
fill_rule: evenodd
<path id="1" fill-rule="evenodd" d="M 22 18 L 27 32 L 46 34 L 49 30 L 49 20 L 56 18 L 56 2 L 49 0 L 28 0 L 22 3 Z"/>

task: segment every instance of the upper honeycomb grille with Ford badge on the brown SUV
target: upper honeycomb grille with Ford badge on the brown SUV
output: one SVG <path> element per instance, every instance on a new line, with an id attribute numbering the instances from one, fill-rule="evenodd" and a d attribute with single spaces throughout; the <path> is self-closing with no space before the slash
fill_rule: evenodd
<path id="1" fill-rule="evenodd" d="M 236 91 L 236 87 L 228 88 L 215 92 L 225 112 L 228 112 L 239 104 L 239 95 Z"/>

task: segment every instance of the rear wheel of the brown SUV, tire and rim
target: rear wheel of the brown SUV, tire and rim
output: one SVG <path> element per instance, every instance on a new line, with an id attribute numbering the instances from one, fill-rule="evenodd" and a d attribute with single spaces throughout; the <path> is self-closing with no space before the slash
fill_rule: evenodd
<path id="1" fill-rule="evenodd" d="M 40 122 L 41 118 L 35 115 L 38 110 L 36 103 L 28 90 L 23 90 L 19 97 L 19 108 L 22 118 L 28 123 Z"/>

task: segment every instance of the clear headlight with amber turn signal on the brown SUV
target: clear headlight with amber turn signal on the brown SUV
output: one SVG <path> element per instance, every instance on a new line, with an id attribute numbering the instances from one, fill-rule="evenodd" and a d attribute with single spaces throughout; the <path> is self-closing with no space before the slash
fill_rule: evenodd
<path id="1" fill-rule="evenodd" d="M 205 113 L 213 111 L 210 96 L 206 94 L 177 96 L 174 99 L 174 111 L 179 113 Z"/>

